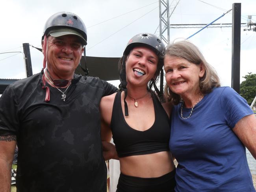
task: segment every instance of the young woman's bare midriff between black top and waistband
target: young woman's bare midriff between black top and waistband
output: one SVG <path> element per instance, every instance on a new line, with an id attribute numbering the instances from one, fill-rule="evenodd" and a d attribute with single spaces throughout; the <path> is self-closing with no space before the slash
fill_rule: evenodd
<path id="1" fill-rule="evenodd" d="M 120 170 L 134 177 L 160 177 L 174 170 L 173 157 L 169 151 L 119 158 Z"/>

